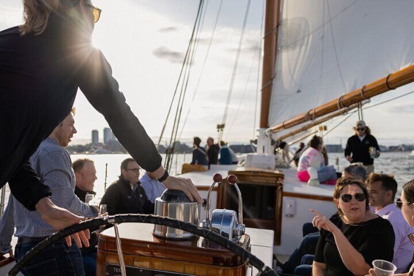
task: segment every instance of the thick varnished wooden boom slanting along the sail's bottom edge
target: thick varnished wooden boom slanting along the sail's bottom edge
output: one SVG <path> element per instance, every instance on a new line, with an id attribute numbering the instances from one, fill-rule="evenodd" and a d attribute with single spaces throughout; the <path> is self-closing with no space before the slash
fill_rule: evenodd
<path id="1" fill-rule="evenodd" d="M 279 131 L 285 128 L 297 126 L 307 121 L 314 120 L 323 115 L 339 110 L 344 107 L 349 107 L 352 104 L 359 103 L 363 100 L 372 98 L 373 96 L 382 94 L 389 90 L 395 89 L 402 85 L 414 82 L 414 65 L 404 68 L 400 71 L 394 72 L 382 79 L 379 79 L 371 84 L 358 88 L 348 94 L 345 94 L 329 103 L 318 106 L 302 113 L 292 119 L 289 119 L 281 124 L 270 127 L 271 131 Z M 262 101 L 263 102 L 263 101 Z"/>

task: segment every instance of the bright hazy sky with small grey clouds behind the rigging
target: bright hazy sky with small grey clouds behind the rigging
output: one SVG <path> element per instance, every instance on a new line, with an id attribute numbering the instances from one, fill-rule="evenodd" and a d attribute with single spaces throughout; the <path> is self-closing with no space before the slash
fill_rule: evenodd
<path id="1" fill-rule="evenodd" d="M 242 33 L 247 0 L 225 0 L 214 29 L 220 0 L 207 2 L 200 40 L 191 66 L 186 98 L 179 127 L 180 141 L 190 142 L 199 136 L 202 144 L 208 136 L 217 137 L 228 105 L 224 140 L 230 144 L 248 144 L 254 139 L 259 124 L 261 85 L 261 46 L 263 0 L 250 3 L 239 62 L 231 86 L 237 49 Z M 196 19 L 196 0 L 95 0 L 101 8 L 101 19 L 95 25 L 94 46 L 101 49 L 112 66 L 113 76 L 124 93 L 126 102 L 139 118 L 148 135 L 158 141 L 166 121 L 180 70 Z M 0 30 L 22 22 L 21 0 L 1 0 Z M 214 37 L 205 60 L 211 35 Z M 202 74 L 201 74 L 202 73 Z M 259 79 L 259 81 L 258 81 Z M 258 85 L 259 84 L 259 85 Z M 371 106 L 414 90 L 414 85 L 372 98 Z M 369 106 L 367 105 L 367 106 Z M 108 127 L 78 91 L 75 124 L 78 133 L 72 145 L 91 141 L 91 130 Z M 390 146 L 414 142 L 414 93 L 384 105 L 364 110 L 364 120 L 380 145 Z M 173 107 L 162 144 L 169 141 L 176 106 Z M 187 115 L 188 114 L 188 115 Z M 187 119 L 186 119 L 187 117 Z M 186 120 L 185 120 L 186 119 Z M 328 122 L 334 128 L 345 117 Z M 325 136 L 326 144 L 344 145 L 353 134 L 358 120 L 353 114 Z M 184 121 L 186 123 L 184 124 Z M 183 127 L 184 126 L 184 127 Z"/>

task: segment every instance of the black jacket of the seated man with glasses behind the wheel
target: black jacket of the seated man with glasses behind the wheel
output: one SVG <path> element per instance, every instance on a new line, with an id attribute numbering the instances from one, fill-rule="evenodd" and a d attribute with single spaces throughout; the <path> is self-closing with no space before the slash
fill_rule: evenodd
<path id="1" fill-rule="evenodd" d="M 135 191 L 132 191 L 129 182 L 121 177 L 106 189 L 100 204 L 106 204 L 110 215 L 119 213 L 154 213 L 154 203 L 148 200 L 140 182 L 138 182 L 138 187 Z"/>

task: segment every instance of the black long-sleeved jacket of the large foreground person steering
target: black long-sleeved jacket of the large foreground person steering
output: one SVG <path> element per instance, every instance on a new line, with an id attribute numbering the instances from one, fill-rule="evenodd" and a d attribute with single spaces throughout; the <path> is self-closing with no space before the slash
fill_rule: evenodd
<path id="1" fill-rule="evenodd" d="M 78 87 L 113 133 L 148 171 L 161 156 L 129 106 L 104 55 L 75 21 L 52 14 L 41 35 L 0 32 L 0 187 L 9 182 L 27 209 L 51 194 L 28 158 L 69 114 Z"/>

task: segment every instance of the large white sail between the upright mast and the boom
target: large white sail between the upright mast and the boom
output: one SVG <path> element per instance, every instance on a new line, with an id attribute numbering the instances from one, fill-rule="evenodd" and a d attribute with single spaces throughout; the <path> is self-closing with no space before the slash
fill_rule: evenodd
<path id="1" fill-rule="evenodd" d="M 284 0 L 280 15 L 269 126 L 414 62 L 413 0 Z"/>

